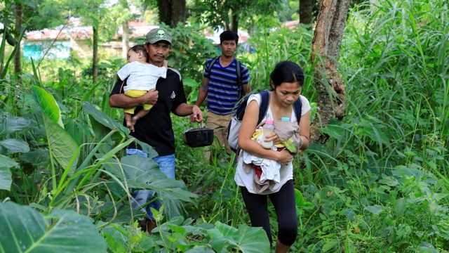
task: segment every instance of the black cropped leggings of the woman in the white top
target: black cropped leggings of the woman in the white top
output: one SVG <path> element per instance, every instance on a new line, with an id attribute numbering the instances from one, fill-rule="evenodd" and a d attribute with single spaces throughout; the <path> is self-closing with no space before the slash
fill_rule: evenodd
<path id="1" fill-rule="evenodd" d="M 262 227 L 267 232 L 269 242 L 273 242 L 269 226 L 268 200 L 272 201 L 278 216 L 278 240 L 284 245 L 293 245 L 297 236 L 297 215 L 293 180 L 287 181 L 277 193 L 269 195 L 253 194 L 241 186 L 241 194 L 250 215 L 251 226 Z"/>

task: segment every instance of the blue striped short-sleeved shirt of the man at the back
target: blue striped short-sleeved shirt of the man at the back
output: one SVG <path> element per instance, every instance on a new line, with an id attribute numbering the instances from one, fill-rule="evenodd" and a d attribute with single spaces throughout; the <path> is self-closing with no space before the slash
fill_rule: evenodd
<path id="1" fill-rule="evenodd" d="M 208 68 L 212 59 L 206 61 L 203 77 L 208 76 Z M 250 72 L 248 67 L 241 64 L 241 83 L 248 84 Z M 241 87 L 237 83 L 236 59 L 227 67 L 220 65 L 216 60 L 210 69 L 208 84 L 208 110 L 217 115 L 229 115 L 239 101 Z"/>

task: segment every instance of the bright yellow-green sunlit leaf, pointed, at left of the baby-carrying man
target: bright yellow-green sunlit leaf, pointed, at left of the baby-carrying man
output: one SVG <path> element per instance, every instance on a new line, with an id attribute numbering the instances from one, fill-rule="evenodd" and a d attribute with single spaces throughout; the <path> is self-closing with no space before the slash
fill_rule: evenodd
<path id="1" fill-rule="evenodd" d="M 64 128 L 61 119 L 61 111 L 55 98 L 53 98 L 53 95 L 38 86 L 32 86 L 32 94 L 34 100 L 41 106 L 43 113 L 53 122 L 58 123 L 59 126 Z"/>

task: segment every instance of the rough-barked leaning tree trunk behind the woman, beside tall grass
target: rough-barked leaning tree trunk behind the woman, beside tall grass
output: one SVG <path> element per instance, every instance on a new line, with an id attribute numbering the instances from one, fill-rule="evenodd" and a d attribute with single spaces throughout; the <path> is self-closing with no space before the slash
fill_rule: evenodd
<path id="1" fill-rule="evenodd" d="M 321 0 L 316 18 L 311 63 L 316 65 L 314 77 L 319 117 L 312 123 L 310 136 L 312 141 L 318 143 L 327 140 L 319 128 L 327 127 L 333 117 L 342 119 L 346 111 L 346 92 L 337 72 L 337 63 L 349 4 L 350 0 Z"/>

